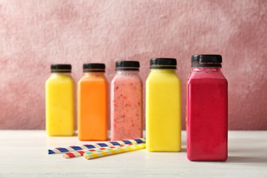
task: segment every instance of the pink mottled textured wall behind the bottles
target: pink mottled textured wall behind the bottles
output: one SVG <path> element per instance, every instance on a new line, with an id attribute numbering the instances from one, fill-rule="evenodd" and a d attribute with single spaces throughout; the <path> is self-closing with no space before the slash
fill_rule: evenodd
<path id="1" fill-rule="evenodd" d="M 267 1 L 0 1 L 0 129 L 44 129 L 44 82 L 52 63 L 177 58 L 183 84 L 190 56 L 223 55 L 229 129 L 267 129 Z"/>

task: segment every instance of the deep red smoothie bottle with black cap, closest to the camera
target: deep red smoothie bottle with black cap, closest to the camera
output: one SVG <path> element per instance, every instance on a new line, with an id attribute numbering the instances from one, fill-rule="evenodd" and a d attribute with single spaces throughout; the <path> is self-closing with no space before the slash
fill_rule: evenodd
<path id="1" fill-rule="evenodd" d="M 187 156 L 190 161 L 227 160 L 227 79 L 221 55 L 192 55 L 187 82 Z"/>

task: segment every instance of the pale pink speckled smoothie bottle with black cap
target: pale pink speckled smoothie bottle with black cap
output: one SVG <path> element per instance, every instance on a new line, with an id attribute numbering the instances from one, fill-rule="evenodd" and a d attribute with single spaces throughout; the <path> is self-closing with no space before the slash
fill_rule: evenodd
<path id="1" fill-rule="evenodd" d="M 143 84 L 137 61 L 117 61 L 111 83 L 111 140 L 142 138 Z"/>

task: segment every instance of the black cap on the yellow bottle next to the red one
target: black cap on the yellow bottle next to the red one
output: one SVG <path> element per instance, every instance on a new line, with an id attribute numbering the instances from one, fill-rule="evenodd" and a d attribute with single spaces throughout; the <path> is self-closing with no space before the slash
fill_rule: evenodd
<path id="1" fill-rule="evenodd" d="M 153 58 L 150 60 L 150 69 L 168 68 L 176 69 L 177 60 L 175 58 Z"/>

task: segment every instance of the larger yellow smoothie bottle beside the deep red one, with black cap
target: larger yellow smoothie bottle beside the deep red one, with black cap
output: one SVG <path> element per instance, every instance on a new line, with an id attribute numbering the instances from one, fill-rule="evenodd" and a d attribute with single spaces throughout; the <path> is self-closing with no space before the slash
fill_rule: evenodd
<path id="1" fill-rule="evenodd" d="M 146 82 L 147 151 L 181 150 L 181 82 L 173 58 L 150 60 Z"/>

